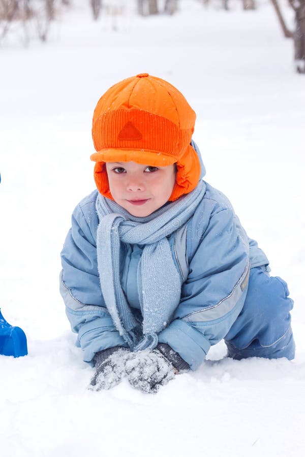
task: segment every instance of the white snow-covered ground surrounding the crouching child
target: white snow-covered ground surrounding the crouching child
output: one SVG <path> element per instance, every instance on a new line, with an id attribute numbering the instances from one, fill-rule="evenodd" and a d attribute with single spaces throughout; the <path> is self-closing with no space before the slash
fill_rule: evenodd
<path id="1" fill-rule="evenodd" d="M 304 455 L 305 77 L 268 2 L 257 11 L 180 0 L 173 17 L 129 13 L 111 30 L 78 2 L 47 44 L 0 50 L 0 306 L 28 355 L 0 356 L 4 457 Z M 293 26 L 292 12 L 283 3 Z M 58 292 L 75 205 L 94 188 L 90 122 L 113 83 L 148 72 L 197 112 L 206 180 L 227 194 L 271 274 L 287 280 L 296 358 L 232 361 L 221 342 L 157 395 L 125 381 L 87 390 Z"/>

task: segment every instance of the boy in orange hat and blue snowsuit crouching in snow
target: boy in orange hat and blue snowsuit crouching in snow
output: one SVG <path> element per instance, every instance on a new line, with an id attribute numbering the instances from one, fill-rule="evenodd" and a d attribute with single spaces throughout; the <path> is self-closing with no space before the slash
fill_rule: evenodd
<path id="1" fill-rule="evenodd" d="M 156 392 L 223 338 L 237 359 L 294 357 L 287 284 L 269 277 L 230 202 L 201 179 L 195 118 L 147 73 L 95 109 L 97 190 L 74 210 L 60 280 L 92 389 L 126 376 Z"/>

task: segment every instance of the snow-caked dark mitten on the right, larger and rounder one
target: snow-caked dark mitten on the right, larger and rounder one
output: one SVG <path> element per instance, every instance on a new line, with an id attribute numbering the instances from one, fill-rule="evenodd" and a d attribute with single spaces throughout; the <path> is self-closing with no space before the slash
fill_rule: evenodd
<path id="1" fill-rule="evenodd" d="M 126 356 L 128 382 L 146 394 L 155 394 L 175 377 L 175 368 L 158 349 L 131 352 Z"/>

